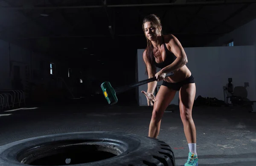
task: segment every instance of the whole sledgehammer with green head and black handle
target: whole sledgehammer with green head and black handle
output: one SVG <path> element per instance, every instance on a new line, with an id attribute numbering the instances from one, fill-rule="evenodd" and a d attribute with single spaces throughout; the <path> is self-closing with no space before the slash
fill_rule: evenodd
<path id="1" fill-rule="evenodd" d="M 167 73 L 166 77 L 169 77 L 169 76 L 172 76 L 172 75 L 174 75 L 173 72 Z M 122 87 L 117 87 L 115 89 L 111 86 L 110 82 L 103 82 L 101 84 L 101 88 L 102 88 L 102 91 L 103 91 L 103 94 L 104 94 L 105 98 L 108 101 L 108 104 L 113 105 L 113 104 L 116 104 L 117 101 L 118 101 L 118 99 L 116 97 L 117 94 L 125 92 L 126 90 L 130 90 L 130 89 L 132 89 L 134 87 L 138 87 L 140 85 L 156 81 L 156 80 L 157 80 L 157 77 L 152 77 L 150 79 L 145 79 L 145 80 L 140 81 L 140 82 L 136 82 L 136 83 L 133 83 L 133 84 L 125 85 L 125 86 L 122 86 Z"/>

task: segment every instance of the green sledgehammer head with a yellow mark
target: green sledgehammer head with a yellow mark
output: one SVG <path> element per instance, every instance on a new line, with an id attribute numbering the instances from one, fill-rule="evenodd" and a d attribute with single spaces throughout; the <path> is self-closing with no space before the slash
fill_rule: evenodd
<path id="1" fill-rule="evenodd" d="M 108 101 L 108 104 L 116 104 L 118 99 L 116 97 L 116 92 L 111 86 L 110 82 L 103 82 L 100 86 L 102 88 L 103 94 Z"/>

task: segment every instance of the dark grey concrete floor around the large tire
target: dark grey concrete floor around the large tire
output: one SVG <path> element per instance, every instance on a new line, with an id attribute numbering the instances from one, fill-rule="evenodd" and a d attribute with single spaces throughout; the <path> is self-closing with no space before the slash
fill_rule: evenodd
<path id="1" fill-rule="evenodd" d="M 159 139 L 168 143 L 183 166 L 189 148 L 177 107 L 163 116 Z M 126 104 L 45 105 L 3 112 L 0 145 L 64 132 L 118 131 L 148 135 L 152 107 Z M 9 115 L 11 114 L 11 115 Z M 241 107 L 195 107 L 199 166 L 256 166 L 256 113 Z"/>

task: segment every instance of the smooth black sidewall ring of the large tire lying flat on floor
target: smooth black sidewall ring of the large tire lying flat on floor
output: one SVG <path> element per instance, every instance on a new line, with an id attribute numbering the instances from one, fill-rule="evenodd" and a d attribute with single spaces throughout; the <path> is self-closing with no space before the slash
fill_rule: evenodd
<path id="1" fill-rule="evenodd" d="M 38 144 L 54 141 L 67 140 L 104 140 L 114 139 L 125 143 L 128 149 L 120 155 L 105 160 L 91 163 L 73 164 L 72 166 L 123 166 L 123 165 L 143 165 L 143 160 L 153 160 L 153 155 L 158 155 L 160 143 L 154 138 L 122 132 L 72 132 L 64 134 L 46 135 L 29 138 L 0 146 L 0 166 L 28 166 L 17 160 L 17 155 L 24 149 L 30 149 Z M 167 146 L 167 145 L 166 145 Z M 175 165 L 175 160 L 173 161 Z M 172 164 L 172 166 L 174 166 Z"/>

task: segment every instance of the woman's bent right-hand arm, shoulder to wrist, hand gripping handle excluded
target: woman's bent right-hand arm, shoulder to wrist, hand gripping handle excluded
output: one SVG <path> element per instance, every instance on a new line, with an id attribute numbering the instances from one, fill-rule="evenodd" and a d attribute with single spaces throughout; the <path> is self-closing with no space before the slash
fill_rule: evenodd
<path id="1" fill-rule="evenodd" d="M 171 47 L 171 51 L 175 56 L 177 56 L 177 58 L 174 62 L 172 62 L 172 64 L 163 68 L 161 70 L 162 73 L 170 73 L 172 71 L 178 70 L 188 62 L 186 53 L 180 44 L 180 41 L 173 35 L 170 35 L 170 38 L 171 39 L 169 41 L 169 45 Z"/>

